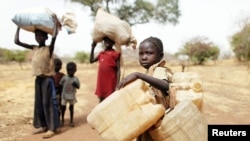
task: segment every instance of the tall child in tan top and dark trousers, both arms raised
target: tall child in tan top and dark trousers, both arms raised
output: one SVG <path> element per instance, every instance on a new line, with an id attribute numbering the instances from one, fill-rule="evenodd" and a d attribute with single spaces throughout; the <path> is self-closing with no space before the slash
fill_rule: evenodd
<path id="1" fill-rule="evenodd" d="M 53 83 L 54 63 L 53 51 L 58 33 L 58 20 L 54 16 L 54 31 L 49 46 L 45 42 L 48 34 L 41 30 L 35 31 L 35 39 L 38 45 L 30 45 L 19 40 L 20 27 L 17 27 L 14 42 L 17 45 L 33 50 L 32 72 L 35 78 L 35 103 L 33 126 L 36 128 L 33 134 L 47 131 L 43 138 L 52 137 L 59 127 L 58 107 L 56 103 L 55 87 Z"/>

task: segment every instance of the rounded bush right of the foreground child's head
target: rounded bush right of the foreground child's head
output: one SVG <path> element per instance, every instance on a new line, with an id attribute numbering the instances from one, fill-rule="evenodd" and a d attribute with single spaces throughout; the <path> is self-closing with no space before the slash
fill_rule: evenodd
<path id="1" fill-rule="evenodd" d="M 195 37 L 186 42 L 178 54 L 188 55 L 194 64 L 202 65 L 206 60 L 217 60 L 220 49 L 206 37 Z"/>

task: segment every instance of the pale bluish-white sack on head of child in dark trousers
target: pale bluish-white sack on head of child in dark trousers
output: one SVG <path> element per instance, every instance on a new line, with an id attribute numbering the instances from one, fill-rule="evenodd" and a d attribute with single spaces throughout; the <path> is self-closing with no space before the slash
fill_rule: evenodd
<path id="1" fill-rule="evenodd" d="M 73 13 L 72 13 L 73 14 Z M 72 16 L 64 16 L 62 23 L 57 25 L 57 28 L 61 28 L 61 26 L 69 27 L 67 29 L 68 33 L 74 33 L 77 27 L 75 17 Z M 57 17 L 54 12 L 52 12 L 48 8 L 38 7 L 38 8 L 30 8 L 19 11 L 14 15 L 12 21 L 19 26 L 20 28 L 34 32 L 36 29 L 42 30 L 48 34 L 53 34 L 54 21 L 53 16 Z"/>

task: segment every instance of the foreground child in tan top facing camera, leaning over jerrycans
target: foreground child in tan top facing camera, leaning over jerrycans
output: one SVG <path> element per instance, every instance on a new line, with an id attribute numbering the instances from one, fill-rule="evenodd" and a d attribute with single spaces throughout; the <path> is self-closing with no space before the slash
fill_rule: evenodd
<path id="1" fill-rule="evenodd" d="M 126 86 L 136 79 L 141 79 L 149 84 L 151 94 L 155 96 L 156 102 L 163 104 L 165 108 L 169 107 L 166 99 L 171 82 L 171 70 L 164 67 L 165 61 L 163 44 L 156 37 L 149 37 L 143 40 L 139 45 L 139 63 L 147 70 L 147 74 L 134 72 L 126 76 L 119 83 L 118 89 Z M 150 141 L 147 132 L 137 138 L 137 141 Z"/>

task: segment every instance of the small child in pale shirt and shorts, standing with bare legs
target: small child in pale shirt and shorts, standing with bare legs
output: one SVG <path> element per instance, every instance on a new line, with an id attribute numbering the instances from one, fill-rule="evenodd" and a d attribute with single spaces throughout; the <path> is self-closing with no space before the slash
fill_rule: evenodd
<path id="1" fill-rule="evenodd" d="M 77 102 L 76 100 L 76 89 L 80 88 L 79 79 L 74 76 L 77 71 L 76 64 L 74 62 L 67 63 L 66 66 L 67 74 L 63 76 L 60 80 L 60 85 L 63 86 L 62 91 L 62 125 L 64 124 L 64 114 L 66 111 L 66 104 L 69 103 L 69 111 L 70 111 L 70 126 L 74 127 L 73 117 L 74 117 L 74 104 Z"/>

